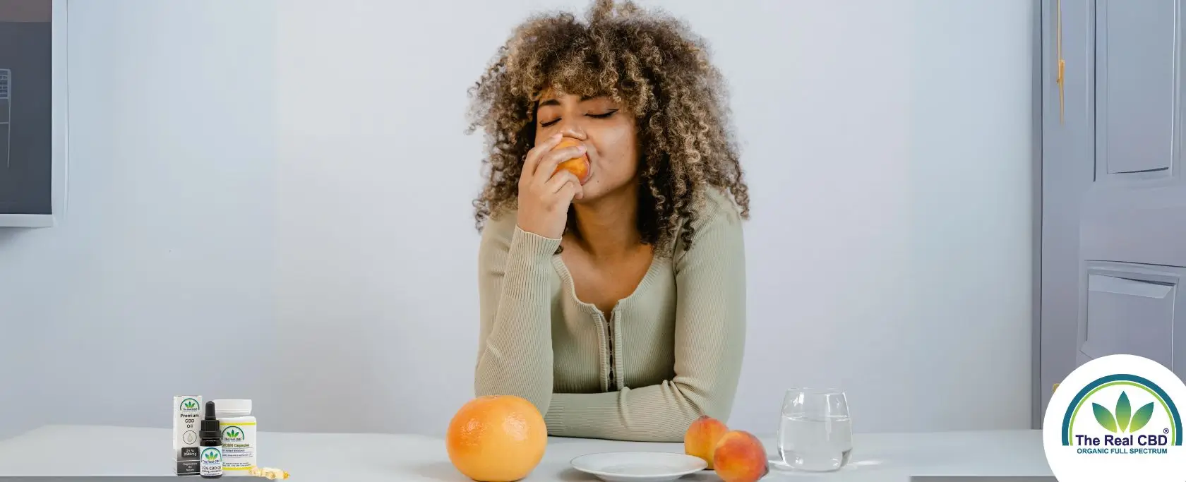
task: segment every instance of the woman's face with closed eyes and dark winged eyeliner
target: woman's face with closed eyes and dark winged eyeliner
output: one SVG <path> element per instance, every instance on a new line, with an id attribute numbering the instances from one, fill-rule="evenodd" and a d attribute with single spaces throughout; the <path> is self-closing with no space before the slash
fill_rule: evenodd
<path id="1" fill-rule="evenodd" d="M 589 178 L 576 204 L 607 193 L 633 188 L 638 174 L 638 136 L 635 118 L 610 97 L 581 98 L 544 94 L 536 108 L 535 143 L 555 134 L 585 144 Z"/>

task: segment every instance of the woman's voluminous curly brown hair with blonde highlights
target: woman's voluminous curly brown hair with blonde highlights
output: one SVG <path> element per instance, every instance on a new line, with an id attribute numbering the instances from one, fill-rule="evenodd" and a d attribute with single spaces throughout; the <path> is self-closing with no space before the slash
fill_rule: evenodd
<path id="1" fill-rule="evenodd" d="M 638 230 L 657 253 L 670 253 L 676 232 L 684 249 L 691 248 L 707 187 L 732 193 L 747 219 L 750 195 L 728 126 L 727 89 L 706 41 L 683 21 L 629 0 L 595 0 L 587 17 L 586 23 L 567 12 L 530 17 L 470 89 L 466 133 L 484 127 L 489 150 L 486 185 L 473 201 L 478 230 L 515 208 L 523 159 L 535 142 L 536 104 L 549 89 L 607 95 L 636 116 Z"/>

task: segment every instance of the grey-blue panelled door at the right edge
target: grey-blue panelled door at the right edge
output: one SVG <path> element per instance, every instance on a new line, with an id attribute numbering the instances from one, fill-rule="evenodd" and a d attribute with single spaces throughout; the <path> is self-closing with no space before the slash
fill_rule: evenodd
<path id="1" fill-rule="evenodd" d="M 1186 375 L 1184 9 L 1042 0 L 1038 424 L 1053 385 L 1093 358 Z"/>

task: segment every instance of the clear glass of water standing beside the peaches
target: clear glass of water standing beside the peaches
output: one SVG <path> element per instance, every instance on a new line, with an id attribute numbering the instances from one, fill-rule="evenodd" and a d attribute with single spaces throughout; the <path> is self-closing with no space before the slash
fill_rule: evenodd
<path id="1" fill-rule="evenodd" d="M 783 398 L 778 455 L 791 469 L 839 470 L 853 454 L 848 399 L 835 388 L 791 388 Z"/>

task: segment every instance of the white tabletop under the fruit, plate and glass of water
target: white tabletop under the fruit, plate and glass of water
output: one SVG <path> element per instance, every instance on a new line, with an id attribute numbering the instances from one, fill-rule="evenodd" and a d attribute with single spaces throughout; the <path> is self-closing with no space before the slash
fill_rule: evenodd
<path id="1" fill-rule="evenodd" d="M 170 429 L 43 426 L 0 441 L 0 476 L 172 476 L 171 435 Z M 438 437 L 262 431 L 257 437 L 260 465 L 287 470 L 291 481 L 470 481 L 449 463 L 445 442 Z M 773 454 L 773 438 L 759 438 Z M 572 469 L 568 461 L 585 454 L 631 450 L 682 454 L 683 445 L 553 437 L 543 462 L 524 481 L 597 481 Z M 908 482 L 912 476 L 927 475 L 1052 476 L 1041 432 L 1006 430 L 855 433 L 848 467 L 830 474 L 771 470 L 764 480 Z M 681 481 L 720 478 L 702 473 Z"/>

